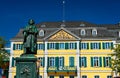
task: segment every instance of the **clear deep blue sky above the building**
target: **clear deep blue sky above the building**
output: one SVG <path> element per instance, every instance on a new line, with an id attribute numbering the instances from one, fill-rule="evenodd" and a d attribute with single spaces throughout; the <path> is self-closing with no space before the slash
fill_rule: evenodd
<path id="1" fill-rule="evenodd" d="M 14 37 L 29 19 L 36 23 L 62 21 L 63 0 L 0 0 L 0 36 Z M 116 24 L 120 21 L 120 0 L 65 0 L 66 21 Z"/>

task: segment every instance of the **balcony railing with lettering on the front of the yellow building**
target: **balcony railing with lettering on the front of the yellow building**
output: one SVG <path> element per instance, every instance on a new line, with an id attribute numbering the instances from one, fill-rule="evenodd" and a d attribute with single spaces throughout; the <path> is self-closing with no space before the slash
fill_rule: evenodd
<path id="1" fill-rule="evenodd" d="M 70 67 L 70 66 L 60 66 L 60 67 L 53 67 L 50 66 L 47 68 L 47 72 L 77 72 L 77 67 Z"/>

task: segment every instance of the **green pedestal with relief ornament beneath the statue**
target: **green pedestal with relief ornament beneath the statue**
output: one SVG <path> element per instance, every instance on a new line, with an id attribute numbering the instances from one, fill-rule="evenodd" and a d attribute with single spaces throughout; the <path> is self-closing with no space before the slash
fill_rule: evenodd
<path id="1" fill-rule="evenodd" d="M 16 60 L 16 78 L 38 78 L 37 58 L 33 54 L 23 54 Z"/>

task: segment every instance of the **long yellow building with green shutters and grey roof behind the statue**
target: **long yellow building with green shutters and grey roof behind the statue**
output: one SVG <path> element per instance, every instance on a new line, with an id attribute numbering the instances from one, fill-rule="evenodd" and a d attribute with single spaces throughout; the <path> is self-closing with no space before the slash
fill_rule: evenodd
<path id="1" fill-rule="evenodd" d="M 119 24 L 43 22 L 39 30 L 37 57 L 40 78 L 112 78 L 111 47 L 120 37 Z M 23 29 L 11 39 L 9 78 L 16 74 L 15 57 L 23 53 Z M 34 72 L 34 71 L 33 71 Z"/>

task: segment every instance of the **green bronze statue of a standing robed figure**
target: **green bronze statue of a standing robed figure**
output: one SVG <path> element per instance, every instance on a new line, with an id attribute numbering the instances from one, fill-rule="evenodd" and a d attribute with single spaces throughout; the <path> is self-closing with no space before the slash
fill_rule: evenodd
<path id="1" fill-rule="evenodd" d="M 37 54 L 37 27 L 34 20 L 29 20 L 28 26 L 23 30 L 24 35 L 24 54 Z"/>

